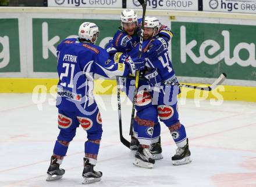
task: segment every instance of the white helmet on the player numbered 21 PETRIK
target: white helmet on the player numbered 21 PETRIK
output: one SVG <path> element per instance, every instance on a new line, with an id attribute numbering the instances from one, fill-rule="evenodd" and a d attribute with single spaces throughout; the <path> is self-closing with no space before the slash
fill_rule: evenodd
<path id="1" fill-rule="evenodd" d="M 91 41 L 95 43 L 99 36 L 99 28 L 95 23 L 84 22 L 80 25 L 78 31 L 79 38 L 86 39 L 87 41 Z M 96 35 L 95 41 L 92 41 L 93 36 Z"/>

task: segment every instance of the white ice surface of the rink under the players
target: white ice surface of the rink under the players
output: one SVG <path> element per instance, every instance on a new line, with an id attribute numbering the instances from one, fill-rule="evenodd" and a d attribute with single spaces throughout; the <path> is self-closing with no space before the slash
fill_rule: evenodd
<path id="1" fill-rule="evenodd" d="M 34 98 L 35 100 L 40 99 Z M 80 127 L 70 143 L 59 181 L 47 182 L 46 171 L 58 135 L 57 109 L 47 95 L 35 104 L 31 94 L 0 94 L 0 186 L 82 186 L 84 141 Z M 123 99 L 125 99 L 123 97 Z M 133 166 L 133 153 L 119 141 L 116 96 L 97 96 L 104 133 L 95 170 L 100 182 L 90 186 L 256 186 L 256 104 L 186 100 L 180 121 L 190 141 L 190 164 L 172 166 L 174 144 L 161 124 L 163 159 L 154 168 Z M 38 107 L 39 106 L 39 107 Z M 129 140 L 131 104 L 122 103 L 123 134 Z"/>

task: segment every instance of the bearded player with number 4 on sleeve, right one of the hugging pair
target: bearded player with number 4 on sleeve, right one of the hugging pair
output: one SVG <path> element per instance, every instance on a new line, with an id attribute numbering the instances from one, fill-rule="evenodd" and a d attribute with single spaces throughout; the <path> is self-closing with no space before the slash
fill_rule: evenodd
<path id="1" fill-rule="evenodd" d="M 186 130 L 179 121 L 177 111 L 177 94 L 180 93 L 180 88 L 173 86 L 173 83 L 177 83 L 177 78 L 169 58 L 168 43 L 165 39 L 157 37 L 158 30 L 159 20 L 156 17 L 145 17 L 141 57 L 147 60 L 144 78 L 150 89 L 143 81 L 139 82 L 134 123 L 138 124 L 135 127 L 140 145 L 133 164 L 146 168 L 152 168 L 155 163 L 150 145 L 158 117 L 169 128 L 177 145 L 172 163 L 180 165 L 191 162 Z M 131 50 L 131 57 L 137 56 L 138 47 L 139 45 L 136 45 Z"/>

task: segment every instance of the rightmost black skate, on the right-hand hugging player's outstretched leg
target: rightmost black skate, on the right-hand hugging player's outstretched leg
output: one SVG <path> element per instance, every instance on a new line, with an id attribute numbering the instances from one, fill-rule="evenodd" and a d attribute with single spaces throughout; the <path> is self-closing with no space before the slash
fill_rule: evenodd
<path id="1" fill-rule="evenodd" d="M 172 156 L 173 165 L 182 165 L 190 163 L 190 151 L 189 151 L 189 139 L 187 138 L 187 144 L 182 148 L 176 149 L 176 154 Z"/>

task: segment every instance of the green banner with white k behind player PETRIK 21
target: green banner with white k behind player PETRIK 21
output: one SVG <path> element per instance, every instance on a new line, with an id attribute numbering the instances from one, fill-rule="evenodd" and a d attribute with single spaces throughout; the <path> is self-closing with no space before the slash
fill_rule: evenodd
<path id="1" fill-rule="evenodd" d="M 96 45 L 106 37 L 113 37 L 120 26 L 119 20 L 33 19 L 34 72 L 56 72 L 56 47 L 63 39 L 76 37 L 84 21 L 99 27 Z"/>

